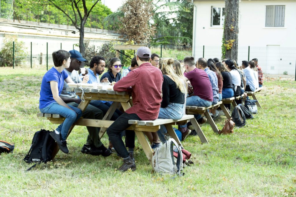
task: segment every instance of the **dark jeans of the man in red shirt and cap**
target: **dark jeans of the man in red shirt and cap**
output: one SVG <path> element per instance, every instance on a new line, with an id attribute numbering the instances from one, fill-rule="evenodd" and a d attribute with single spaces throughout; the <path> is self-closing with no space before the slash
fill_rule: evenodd
<path id="1" fill-rule="evenodd" d="M 141 119 L 135 113 L 132 113 L 132 114 L 123 113 L 107 129 L 107 134 L 109 136 L 111 143 L 113 144 L 114 149 L 116 150 L 118 155 L 123 158 L 128 157 L 129 154 L 121 139 L 121 132 L 126 130 L 126 128 L 128 128 L 129 126 L 131 126 L 131 124 L 128 124 L 129 120 L 140 121 Z M 130 139 L 132 138 L 132 135 L 131 135 L 132 133 L 134 133 L 134 131 L 126 130 L 126 138 L 128 138 L 127 139 L 128 141 L 135 139 L 134 137 L 133 139 Z"/>

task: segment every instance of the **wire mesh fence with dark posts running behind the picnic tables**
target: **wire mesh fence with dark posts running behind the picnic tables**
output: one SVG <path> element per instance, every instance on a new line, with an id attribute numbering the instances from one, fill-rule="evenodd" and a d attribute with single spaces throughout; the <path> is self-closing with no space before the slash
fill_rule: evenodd
<path id="1" fill-rule="evenodd" d="M 12 43 L 13 44 L 13 43 Z M 53 65 L 52 52 L 64 50 L 78 50 L 79 47 L 73 43 L 25 43 L 27 56 L 14 56 L 14 60 L 22 59 L 21 67 L 27 68 L 48 68 Z M 193 48 L 167 48 L 160 46 L 151 48 L 152 53 L 157 53 L 160 57 L 172 57 L 183 60 L 186 56 L 192 56 Z M 194 57 L 219 58 L 221 59 L 221 47 L 197 46 L 194 48 Z M 287 47 L 239 47 L 237 64 L 240 66 L 243 60 L 258 59 L 258 64 L 263 69 L 265 76 L 272 78 L 287 78 L 296 80 L 296 48 Z"/>

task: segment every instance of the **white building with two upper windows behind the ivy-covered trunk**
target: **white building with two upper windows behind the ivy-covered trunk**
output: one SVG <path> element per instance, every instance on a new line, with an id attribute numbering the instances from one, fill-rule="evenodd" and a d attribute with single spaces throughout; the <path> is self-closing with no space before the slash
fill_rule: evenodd
<path id="1" fill-rule="evenodd" d="M 221 57 L 224 1 L 188 0 L 194 4 L 193 56 Z M 238 64 L 258 58 L 264 73 L 295 74 L 296 1 L 242 0 L 239 4 Z"/>

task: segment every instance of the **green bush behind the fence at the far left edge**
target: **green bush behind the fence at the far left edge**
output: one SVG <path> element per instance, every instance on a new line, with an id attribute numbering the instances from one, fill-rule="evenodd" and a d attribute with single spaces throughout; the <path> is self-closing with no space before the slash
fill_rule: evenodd
<path id="1" fill-rule="evenodd" d="M 17 41 L 17 35 L 5 34 L 0 51 L 0 66 L 13 66 L 13 42 L 15 42 L 15 66 L 20 66 L 26 58 L 25 43 Z"/>

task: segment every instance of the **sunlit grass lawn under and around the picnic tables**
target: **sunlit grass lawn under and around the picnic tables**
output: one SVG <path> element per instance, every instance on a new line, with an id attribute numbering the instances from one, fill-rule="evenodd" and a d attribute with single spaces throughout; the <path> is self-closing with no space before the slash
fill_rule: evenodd
<path id="1" fill-rule="evenodd" d="M 170 179 L 152 172 L 136 144 L 135 172 L 118 172 L 122 160 L 82 154 L 87 130 L 75 126 L 61 151 L 47 164 L 25 172 L 22 159 L 33 135 L 57 125 L 37 118 L 41 79 L 46 71 L 0 68 L 0 140 L 15 144 L 0 155 L 0 196 L 296 196 L 296 82 L 266 81 L 257 94 L 262 109 L 234 134 L 218 136 L 202 126 L 208 144 L 197 136 L 183 142 L 194 165 Z M 222 128 L 226 117 L 216 121 Z M 102 142 L 107 144 L 107 135 Z"/>

